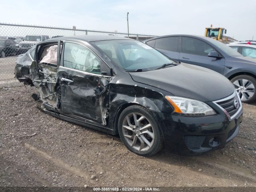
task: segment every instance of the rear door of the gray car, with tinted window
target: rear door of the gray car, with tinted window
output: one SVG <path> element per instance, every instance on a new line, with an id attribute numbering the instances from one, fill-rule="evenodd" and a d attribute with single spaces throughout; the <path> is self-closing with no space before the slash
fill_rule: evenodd
<path id="1" fill-rule="evenodd" d="M 173 60 L 179 60 L 179 45 L 181 38 L 178 36 L 156 39 L 155 48 Z"/>

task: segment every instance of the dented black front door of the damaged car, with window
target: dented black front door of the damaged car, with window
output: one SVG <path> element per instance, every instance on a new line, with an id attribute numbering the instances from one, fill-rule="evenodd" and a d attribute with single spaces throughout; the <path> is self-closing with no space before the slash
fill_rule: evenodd
<path id="1" fill-rule="evenodd" d="M 106 126 L 110 68 L 84 44 L 65 42 L 62 53 L 58 69 L 62 113 Z"/>

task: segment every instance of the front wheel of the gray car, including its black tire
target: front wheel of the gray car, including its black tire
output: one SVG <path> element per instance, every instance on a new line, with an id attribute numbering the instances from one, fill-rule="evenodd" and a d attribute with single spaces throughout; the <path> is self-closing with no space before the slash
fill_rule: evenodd
<path id="1" fill-rule="evenodd" d="M 238 75 L 231 79 L 242 102 L 251 103 L 256 100 L 256 79 L 249 75 Z"/>

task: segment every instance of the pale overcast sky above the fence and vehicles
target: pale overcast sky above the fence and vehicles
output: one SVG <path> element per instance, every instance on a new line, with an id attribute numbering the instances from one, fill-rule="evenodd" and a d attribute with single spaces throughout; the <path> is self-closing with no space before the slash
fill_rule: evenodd
<path id="1" fill-rule="evenodd" d="M 256 40 L 255 0 L 2 0 L 0 22 L 166 35 L 204 35 L 224 27 L 237 40 Z"/>

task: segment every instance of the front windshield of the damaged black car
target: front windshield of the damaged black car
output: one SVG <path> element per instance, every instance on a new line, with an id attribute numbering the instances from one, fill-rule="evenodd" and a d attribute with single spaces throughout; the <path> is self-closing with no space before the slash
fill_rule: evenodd
<path id="1" fill-rule="evenodd" d="M 107 40 L 97 41 L 94 44 L 126 71 L 155 70 L 164 64 L 174 63 L 157 50 L 139 41 Z"/>

